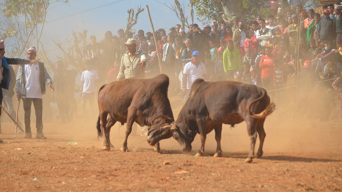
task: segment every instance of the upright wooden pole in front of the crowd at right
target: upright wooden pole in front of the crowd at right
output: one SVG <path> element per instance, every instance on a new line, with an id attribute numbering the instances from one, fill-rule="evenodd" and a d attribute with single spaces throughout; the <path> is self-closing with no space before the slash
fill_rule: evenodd
<path id="1" fill-rule="evenodd" d="M 302 14 L 299 15 L 298 18 L 298 33 L 297 33 L 297 44 L 296 44 L 296 55 L 295 55 L 295 65 L 294 68 L 294 92 L 293 92 L 293 119 L 296 117 L 297 113 L 297 82 L 298 82 L 298 70 L 301 68 L 300 62 L 299 62 L 299 41 L 300 41 L 300 33 L 302 28 Z"/>

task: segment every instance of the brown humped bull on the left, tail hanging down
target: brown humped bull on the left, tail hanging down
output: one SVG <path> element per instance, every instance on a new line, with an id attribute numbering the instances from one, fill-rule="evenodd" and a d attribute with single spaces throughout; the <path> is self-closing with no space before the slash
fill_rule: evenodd
<path id="1" fill-rule="evenodd" d="M 147 142 L 159 152 L 159 141 L 171 137 L 168 129 L 160 127 L 174 121 L 167 95 L 168 86 L 169 78 L 165 74 L 152 79 L 125 79 L 103 85 L 98 92 L 100 114 L 96 125 L 98 137 L 104 135 L 103 148 L 110 150 L 112 146 L 110 128 L 117 121 L 122 125 L 127 122 L 121 151 L 128 151 L 127 138 L 135 121 L 140 126 L 148 126 Z"/>

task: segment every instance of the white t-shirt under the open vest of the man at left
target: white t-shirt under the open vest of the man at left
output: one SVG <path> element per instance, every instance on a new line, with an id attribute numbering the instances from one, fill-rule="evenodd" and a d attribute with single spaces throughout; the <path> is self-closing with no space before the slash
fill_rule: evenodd
<path id="1" fill-rule="evenodd" d="M 43 98 L 39 82 L 39 65 L 25 65 L 25 97 L 26 98 Z"/>

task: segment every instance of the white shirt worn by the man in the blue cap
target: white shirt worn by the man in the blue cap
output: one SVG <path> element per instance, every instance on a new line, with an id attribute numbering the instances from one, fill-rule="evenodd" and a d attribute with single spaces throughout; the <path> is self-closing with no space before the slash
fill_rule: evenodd
<path id="1" fill-rule="evenodd" d="M 191 89 L 191 85 L 193 84 L 193 82 L 198 78 L 203 78 L 203 75 L 207 74 L 207 72 L 206 72 L 206 67 L 204 66 L 204 64 L 199 63 L 199 66 L 197 68 L 190 61 L 189 63 L 185 64 L 183 74 L 188 75 L 187 88 L 189 90 Z"/>

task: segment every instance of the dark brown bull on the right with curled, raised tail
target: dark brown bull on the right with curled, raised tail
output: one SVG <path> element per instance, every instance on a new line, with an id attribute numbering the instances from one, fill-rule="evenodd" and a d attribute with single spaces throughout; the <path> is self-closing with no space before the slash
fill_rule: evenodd
<path id="1" fill-rule="evenodd" d="M 252 162 L 255 141 L 259 133 L 260 146 L 257 157 L 263 154 L 265 139 L 264 121 L 275 109 L 263 88 L 234 81 L 206 82 L 197 79 L 174 124 L 162 127 L 171 129 L 171 134 L 183 148 L 183 152 L 191 151 L 191 143 L 197 133 L 201 135 L 201 148 L 195 156 L 202 156 L 206 136 L 215 129 L 217 142 L 216 156 L 222 156 L 221 132 L 222 124 L 235 124 L 246 121 L 251 148 L 246 162 Z"/>

